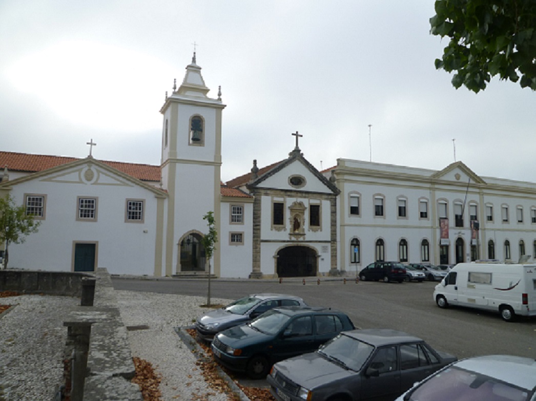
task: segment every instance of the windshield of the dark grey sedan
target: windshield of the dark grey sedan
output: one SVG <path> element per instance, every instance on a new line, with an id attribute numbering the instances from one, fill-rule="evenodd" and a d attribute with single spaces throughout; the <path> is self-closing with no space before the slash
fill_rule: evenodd
<path id="1" fill-rule="evenodd" d="M 339 334 L 318 349 L 318 353 L 328 359 L 333 359 L 349 369 L 358 372 L 374 351 L 370 344 L 355 338 Z"/>

